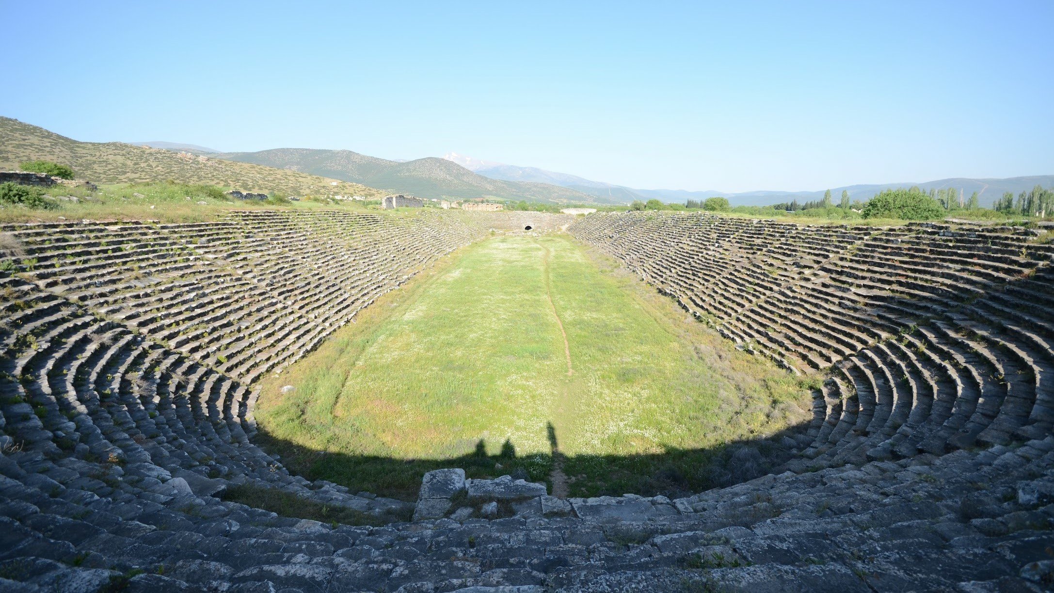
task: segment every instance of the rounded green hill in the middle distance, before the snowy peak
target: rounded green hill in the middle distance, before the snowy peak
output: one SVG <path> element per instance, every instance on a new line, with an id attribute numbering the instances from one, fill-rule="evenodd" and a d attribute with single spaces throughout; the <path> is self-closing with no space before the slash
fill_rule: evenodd
<path id="1" fill-rule="evenodd" d="M 601 201 L 582 192 L 548 183 L 489 179 L 435 157 L 398 162 L 351 151 L 314 149 L 274 149 L 213 156 L 387 187 L 423 198 L 494 197 L 550 203 Z"/>

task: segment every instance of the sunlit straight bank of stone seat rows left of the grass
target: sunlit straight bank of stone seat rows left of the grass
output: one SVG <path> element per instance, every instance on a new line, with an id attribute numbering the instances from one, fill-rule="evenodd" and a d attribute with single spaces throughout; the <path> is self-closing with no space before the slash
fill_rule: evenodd
<path id="1" fill-rule="evenodd" d="M 84 255 L 80 265 L 105 273 L 104 286 L 95 285 L 99 283 L 98 277 L 87 286 L 79 284 L 76 275 L 52 275 L 38 282 L 251 383 L 261 373 L 280 369 L 311 350 L 378 294 L 480 232 L 474 230 L 471 232 L 476 235 L 469 235 L 468 225 L 448 223 L 433 229 L 438 240 L 428 242 L 429 237 L 421 229 L 404 229 L 406 225 L 392 224 L 399 219 L 374 215 L 375 228 L 370 233 L 350 235 L 346 228 L 336 228 L 336 236 L 349 238 L 333 241 L 329 237 L 330 244 L 339 244 L 324 251 L 324 237 L 318 231 L 288 245 L 278 244 L 277 233 L 269 235 L 268 221 L 272 228 L 282 222 L 288 224 L 289 215 L 258 213 L 253 218 L 262 222 L 158 225 L 153 233 L 161 238 L 151 239 L 151 244 L 170 245 L 171 252 L 186 260 L 179 261 L 180 264 L 189 263 L 176 272 L 167 261 L 158 262 L 158 268 L 108 269 Z M 435 225 L 434 220 L 429 222 Z M 35 278 L 41 266 L 51 272 L 51 263 L 63 258 L 62 251 L 69 244 L 53 236 L 55 225 L 47 226 L 9 231 L 23 242 L 27 256 L 32 256 L 22 260 L 25 263 L 20 271 Z M 144 233 L 143 225 L 131 226 L 137 234 Z M 320 230 L 323 224 L 318 226 Z M 118 239 L 114 236 L 130 234 L 121 225 L 74 224 L 59 226 L 58 236 L 64 236 L 70 228 L 77 231 L 75 236 L 91 235 L 94 243 L 104 243 L 111 249 L 116 249 L 113 244 Z M 267 240 L 254 240 L 254 233 L 262 234 Z M 217 234 L 228 239 L 223 254 L 232 260 L 215 255 L 212 243 Z M 391 249 L 401 238 L 403 245 Z M 262 250 L 258 246 L 261 243 Z M 311 249 L 305 250 L 305 245 Z M 258 251 L 267 259 L 259 258 L 255 253 Z M 110 253 L 96 257 L 104 259 Z M 305 258 L 310 259 L 305 261 Z M 301 269 L 272 268 L 274 259 L 299 259 Z M 350 275 L 360 280 L 351 282 Z M 285 286 L 294 285 L 298 292 L 284 292 Z"/>

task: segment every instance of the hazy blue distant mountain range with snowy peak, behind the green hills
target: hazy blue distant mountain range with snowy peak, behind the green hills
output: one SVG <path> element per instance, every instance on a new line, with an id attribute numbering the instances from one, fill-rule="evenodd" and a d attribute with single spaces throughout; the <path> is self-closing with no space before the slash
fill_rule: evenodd
<path id="1" fill-rule="evenodd" d="M 604 198 L 620 202 L 632 200 L 657 199 L 663 202 L 684 202 L 685 200 L 705 200 L 706 198 L 723 197 L 727 198 L 733 205 L 768 205 L 780 202 L 798 200 L 799 202 L 819 200 L 823 198 L 825 190 L 787 192 L 787 191 L 755 191 L 755 192 L 718 192 L 707 190 L 702 192 L 690 192 L 687 190 L 640 190 L 605 183 L 603 181 L 592 181 L 569 175 L 567 173 L 555 173 L 538 169 L 535 166 L 518 166 L 501 162 L 486 161 L 461 155 L 457 153 L 447 153 L 445 159 L 456 162 L 462 166 L 484 177 L 492 179 L 506 179 L 518 181 L 540 181 L 563 185 L 579 192 L 590 194 L 598 198 Z M 1024 177 L 1009 177 L 1004 179 L 971 179 L 965 177 L 952 177 L 948 179 L 937 179 L 935 181 L 905 181 L 900 183 L 871 183 L 857 185 L 843 185 L 841 187 L 831 187 L 831 193 L 835 200 L 841 196 L 842 191 L 846 191 L 854 200 L 867 200 L 883 190 L 894 187 L 910 187 L 918 185 L 924 191 L 944 190 L 955 187 L 969 197 L 974 192 L 980 199 L 981 205 L 991 205 L 1003 192 L 1017 194 L 1028 191 L 1035 185 L 1045 187 L 1054 186 L 1054 175 L 1030 175 Z"/>

